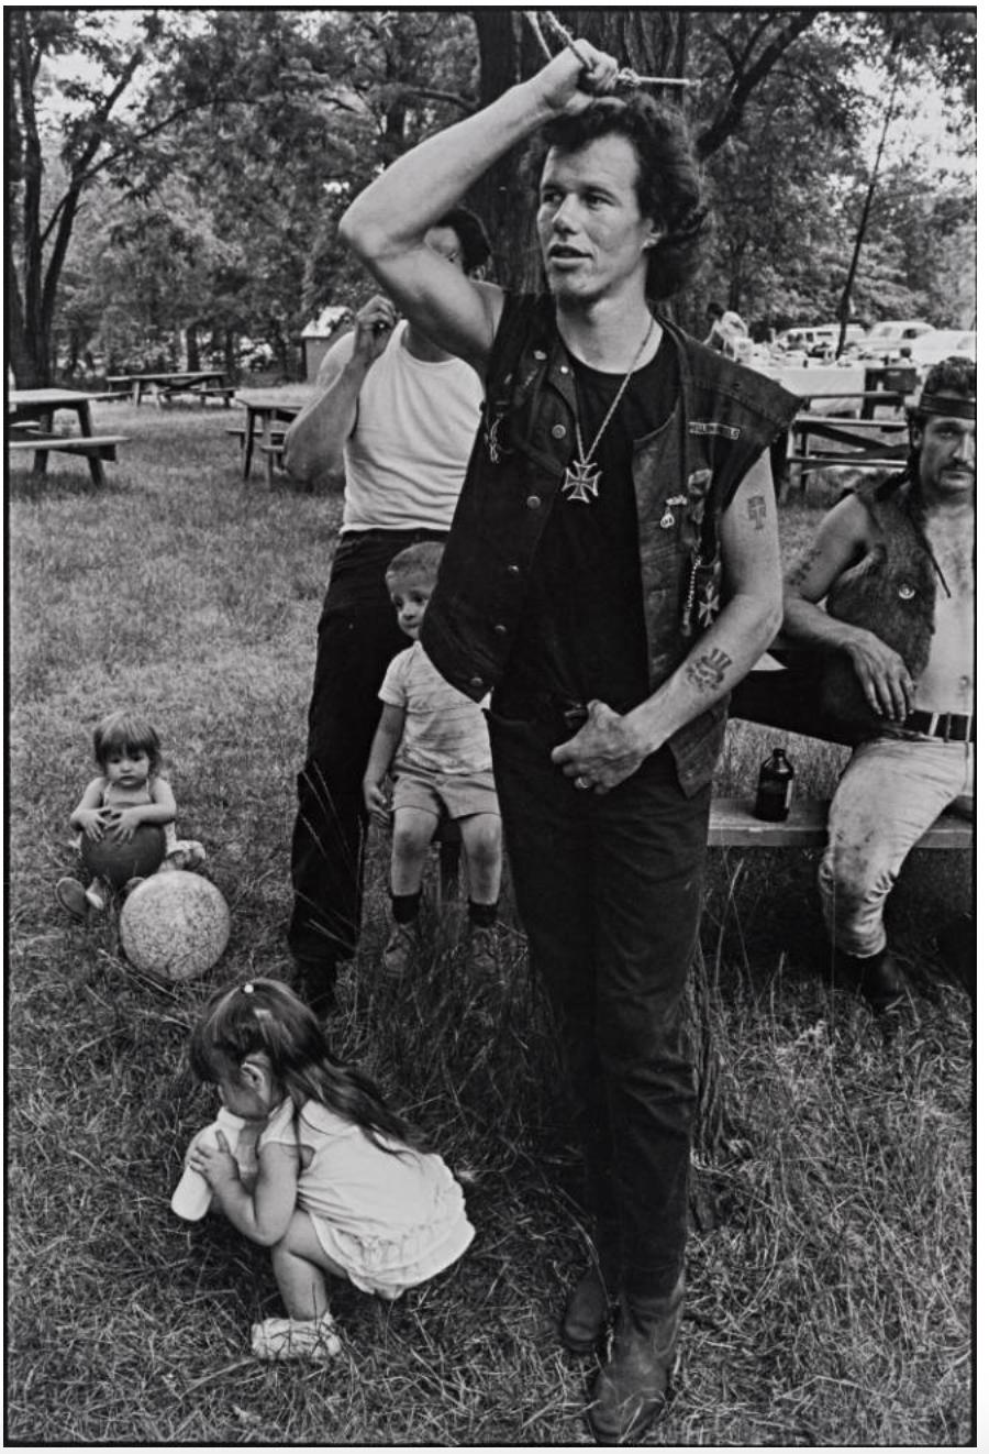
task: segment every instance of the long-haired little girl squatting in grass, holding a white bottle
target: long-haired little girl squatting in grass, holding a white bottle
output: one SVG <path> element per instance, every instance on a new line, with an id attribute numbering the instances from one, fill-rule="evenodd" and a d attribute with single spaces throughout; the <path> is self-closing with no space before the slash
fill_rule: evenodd
<path id="1" fill-rule="evenodd" d="M 257 1358 L 321 1362 L 338 1352 L 327 1274 L 394 1301 L 471 1245 L 463 1192 L 443 1160 L 331 1054 L 286 984 L 253 980 L 213 995 L 189 1060 L 227 1111 L 259 1128 L 253 1185 L 222 1131 L 200 1137 L 187 1162 L 237 1230 L 272 1248 L 288 1317 L 254 1325 Z"/>

